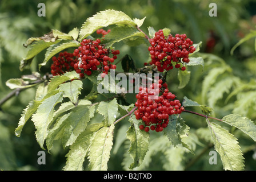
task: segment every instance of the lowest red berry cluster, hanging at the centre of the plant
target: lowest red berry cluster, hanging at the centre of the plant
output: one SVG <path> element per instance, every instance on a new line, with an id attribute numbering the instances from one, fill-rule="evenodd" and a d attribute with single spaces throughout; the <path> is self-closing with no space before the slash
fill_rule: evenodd
<path id="1" fill-rule="evenodd" d="M 162 93 L 159 96 L 159 93 Z M 163 131 L 169 123 L 169 115 L 181 114 L 184 107 L 181 106 L 179 100 L 175 100 L 175 95 L 169 92 L 166 82 L 158 80 L 158 84 L 154 83 L 149 88 L 139 88 L 136 94 L 138 107 L 134 111 L 136 119 L 142 119 L 143 125 L 139 129 Z"/>

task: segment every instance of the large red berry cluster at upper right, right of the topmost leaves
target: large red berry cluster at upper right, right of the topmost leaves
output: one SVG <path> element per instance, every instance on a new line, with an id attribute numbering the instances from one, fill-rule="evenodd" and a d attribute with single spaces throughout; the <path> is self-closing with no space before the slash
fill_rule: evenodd
<path id="1" fill-rule="evenodd" d="M 151 47 L 149 47 L 151 62 L 155 64 L 159 72 L 168 71 L 175 68 L 186 70 L 185 63 L 189 63 L 189 53 L 195 51 L 193 41 L 187 38 L 186 34 L 176 34 L 165 36 L 163 30 L 155 32 L 154 38 L 149 40 Z"/>

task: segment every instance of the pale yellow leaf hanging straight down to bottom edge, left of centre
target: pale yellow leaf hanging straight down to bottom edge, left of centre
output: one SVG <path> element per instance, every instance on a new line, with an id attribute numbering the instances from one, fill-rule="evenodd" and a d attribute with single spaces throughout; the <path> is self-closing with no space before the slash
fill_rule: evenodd
<path id="1" fill-rule="evenodd" d="M 94 133 L 89 149 L 89 168 L 91 171 L 106 171 L 110 151 L 113 146 L 114 124 L 102 127 Z"/>

